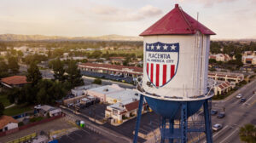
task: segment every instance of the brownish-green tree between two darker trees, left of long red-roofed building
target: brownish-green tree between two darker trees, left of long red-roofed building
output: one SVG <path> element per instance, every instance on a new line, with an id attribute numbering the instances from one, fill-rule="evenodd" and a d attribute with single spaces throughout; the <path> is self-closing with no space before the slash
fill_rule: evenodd
<path id="1" fill-rule="evenodd" d="M 52 62 L 52 68 L 54 71 L 54 77 L 55 80 L 58 80 L 60 82 L 65 82 L 65 69 L 64 69 L 64 64 L 61 62 L 61 60 L 58 58 L 57 60 L 54 60 Z"/>

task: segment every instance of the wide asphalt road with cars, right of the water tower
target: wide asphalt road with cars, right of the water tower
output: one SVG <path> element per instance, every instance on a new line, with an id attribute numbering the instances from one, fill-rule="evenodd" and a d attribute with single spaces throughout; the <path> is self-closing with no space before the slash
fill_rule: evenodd
<path id="1" fill-rule="evenodd" d="M 219 119 L 217 116 L 212 116 L 212 125 L 215 123 L 223 124 L 224 128 L 218 132 L 213 133 L 213 142 L 218 143 L 240 143 L 239 129 L 246 123 L 253 123 L 256 125 L 256 80 L 253 83 L 246 85 L 245 88 L 240 89 L 240 94 L 247 101 L 241 103 L 236 99 L 236 94 L 229 100 L 212 103 L 212 109 L 218 112 L 226 113 L 226 117 Z M 201 142 L 206 142 L 205 140 Z"/>

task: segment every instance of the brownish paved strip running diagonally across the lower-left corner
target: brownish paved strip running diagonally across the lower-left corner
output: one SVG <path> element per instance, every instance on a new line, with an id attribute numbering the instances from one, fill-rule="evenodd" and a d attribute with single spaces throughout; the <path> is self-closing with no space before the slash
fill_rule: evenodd
<path id="1" fill-rule="evenodd" d="M 59 129 L 69 129 L 69 128 L 73 128 L 73 126 L 68 124 L 62 117 L 62 118 L 50 121 L 48 123 L 42 123 L 28 129 L 20 130 L 19 132 L 16 132 L 14 134 L 9 134 L 9 135 L 0 137 L 0 142 L 4 143 L 10 140 L 15 140 L 35 132 L 40 133 L 41 131 L 44 131 L 45 133 L 49 133 L 49 131 L 55 131 Z"/>

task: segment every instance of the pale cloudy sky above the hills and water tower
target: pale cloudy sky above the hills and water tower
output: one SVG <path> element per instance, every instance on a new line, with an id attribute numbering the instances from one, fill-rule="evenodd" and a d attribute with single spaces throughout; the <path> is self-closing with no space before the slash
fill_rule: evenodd
<path id="1" fill-rule="evenodd" d="M 175 3 L 212 38 L 256 38 L 256 0 L 1 0 L 0 34 L 138 36 Z"/>

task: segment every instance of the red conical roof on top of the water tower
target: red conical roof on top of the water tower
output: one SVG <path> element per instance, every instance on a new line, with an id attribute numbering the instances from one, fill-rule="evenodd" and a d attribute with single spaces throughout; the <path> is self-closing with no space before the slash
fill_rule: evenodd
<path id="1" fill-rule="evenodd" d="M 196 31 L 201 31 L 205 35 L 215 35 L 213 31 L 193 19 L 180 9 L 178 4 L 175 4 L 172 11 L 143 31 L 140 36 L 195 34 Z"/>

